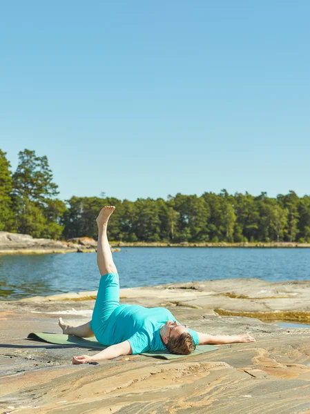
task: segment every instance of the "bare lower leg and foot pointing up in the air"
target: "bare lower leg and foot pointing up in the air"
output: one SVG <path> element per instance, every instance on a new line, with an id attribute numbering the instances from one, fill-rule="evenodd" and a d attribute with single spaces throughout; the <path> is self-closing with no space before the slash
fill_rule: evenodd
<path id="1" fill-rule="evenodd" d="M 100 275 L 108 273 L 117 273 L 117 268 L 113 262 L 113 257 L 108 243 L 106 229 L 108 227 L 108 219 L 115 210 L 114 206 L 106 206 L 100 211 L 96 221 L 98 226 L 98 244 L 97 244 L 97 264 Z"/>

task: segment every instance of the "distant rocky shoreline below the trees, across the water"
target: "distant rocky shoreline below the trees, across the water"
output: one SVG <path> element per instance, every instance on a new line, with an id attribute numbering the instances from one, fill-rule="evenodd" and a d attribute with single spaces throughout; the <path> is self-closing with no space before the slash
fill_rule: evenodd
<path id="1" fill-rule="evenodd" d="M 159 243 L 159 242 L 111 242 L 112 251 L 119 251 L 122 247 L 201 247 L 201 248 L 310 248 L 309 243 Z M 8 233 L 0 231 L 0 255 L 11 254 L 44 254 L 44 253 L 95 253 L 97 242 L 90 237 L 76 237 L 66 242 L 52 239 L 35 239 L 30 235 Z"/>

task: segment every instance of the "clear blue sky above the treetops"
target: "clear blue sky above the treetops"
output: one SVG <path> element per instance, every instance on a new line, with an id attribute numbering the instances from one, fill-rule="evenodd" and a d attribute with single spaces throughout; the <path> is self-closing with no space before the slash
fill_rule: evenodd
<path id="1" fill-rule="evenodd" d="M 0 5 L 0 148 L 61 199 L 310 193 L 309 0 Z"/>

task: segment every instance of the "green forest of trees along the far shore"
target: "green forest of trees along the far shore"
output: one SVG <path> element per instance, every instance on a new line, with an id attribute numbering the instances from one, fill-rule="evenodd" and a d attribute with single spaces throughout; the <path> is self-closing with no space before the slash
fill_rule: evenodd
<path id="1" fill-rule="evenodd" d="M 168 195 L 129 201 L 115 197 L 57 198 L 46 156 L 19 152 L 12 172 L 0 150 L 0 230 L 32 237 L 97 238 L 102 206 L 116 206 L 109 238 L 118 242 L 310 242 L 310 196 L 267 193 Z"/>

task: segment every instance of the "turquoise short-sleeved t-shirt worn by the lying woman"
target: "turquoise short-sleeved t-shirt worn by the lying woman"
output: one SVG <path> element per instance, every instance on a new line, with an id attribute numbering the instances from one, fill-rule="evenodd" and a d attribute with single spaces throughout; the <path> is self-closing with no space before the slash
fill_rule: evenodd
<path id="1" fill-rule="evenodd" d="M 168 320 L 176 321 L 166 308 L 144 308 L 139 305 L 123 304 L 111 313 L 104 330 L 96 333 L 97 340 L 110 346 L 128 340 L 133 354 L 146 351 L 163 351 L 159 330 Z M 188 329 L 193 342 L 199 343 L 197 332 Z"/>

